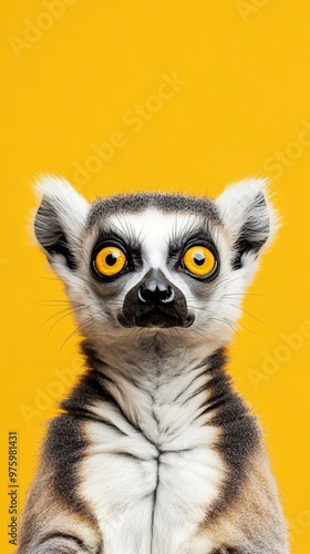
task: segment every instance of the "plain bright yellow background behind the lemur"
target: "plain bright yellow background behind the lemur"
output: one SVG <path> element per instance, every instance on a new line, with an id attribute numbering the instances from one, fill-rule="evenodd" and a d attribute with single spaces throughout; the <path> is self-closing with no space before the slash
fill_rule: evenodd
<path id="1" fill-rule="evenodd" d="M 12 552 L 8 431 L 19 431 L 22 502 L 45 422 L 73 382 L 61 384 L 55 370 L 81 370 L 79 339 L 61 348 L 72 318 L 51 331 L 58 317 L 42 326 L 64 295 L 30 244 L 30 183 L 40 172 L 74 182 L 76 164 L 95 165 L 92 145 L 120 131 L 123 145 L 111 160 L 84 183 L 75 176 L 87 198 L 153 189 L 217 195 L 248 175 L 272 178 L 283 226 L 245 300 L 231 372 L 266 430 L 292 552 L 309 554 L 310 338 L 300 330 L 310 319 L 309 0 L 61 3 L 58 19 L 44 16 L 49 0 L 2 2 L 1 10 L 0 552 Z M 149 98 L 163 74 L 183 84 L 159 105 Z M 124 121 L 136 104 L 159 105 L 146 110 L 138 132 Z M 294 348 L 283 338 L 291 334 Z"/>

